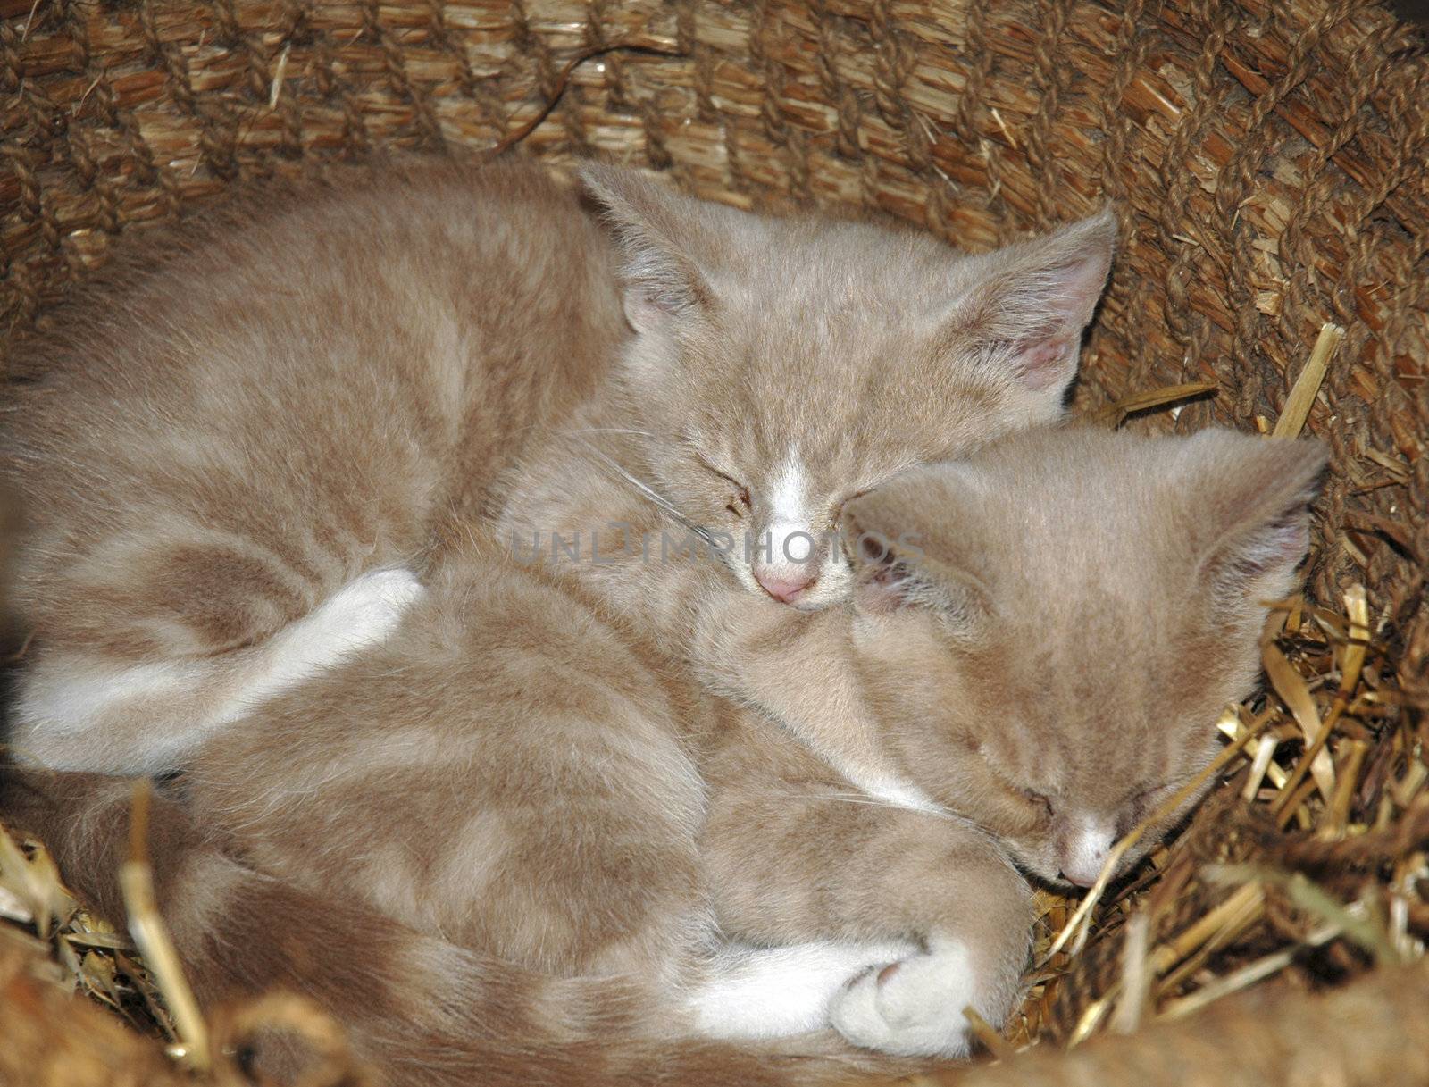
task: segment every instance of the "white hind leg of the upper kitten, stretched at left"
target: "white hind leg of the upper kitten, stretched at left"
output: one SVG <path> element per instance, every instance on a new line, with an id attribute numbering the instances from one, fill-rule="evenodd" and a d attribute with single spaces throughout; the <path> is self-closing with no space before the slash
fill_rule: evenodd
<path id="1" fill-rule="evenodd" d="M 372 570 L 267 640 L 211 657 L 41 653 L 19 681 L 11 747 L 51 770 L 173 768 L 219 727 L 386 640 L 424 591 L 410 570 Z"/>

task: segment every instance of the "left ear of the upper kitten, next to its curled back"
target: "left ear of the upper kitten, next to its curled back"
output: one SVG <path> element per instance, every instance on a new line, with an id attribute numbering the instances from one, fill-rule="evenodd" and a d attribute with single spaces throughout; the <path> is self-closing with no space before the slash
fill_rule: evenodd
<path id="1" fill-rule="evenodd" d="M 719 211 L 672 193 L 633 170 L 586 163 L 586 191 L 606 213 L 624 257 L 626 320 L 637 333 L 709 309 L 709 289 L 696 254 L 714 251 L 707 221 Z"/>

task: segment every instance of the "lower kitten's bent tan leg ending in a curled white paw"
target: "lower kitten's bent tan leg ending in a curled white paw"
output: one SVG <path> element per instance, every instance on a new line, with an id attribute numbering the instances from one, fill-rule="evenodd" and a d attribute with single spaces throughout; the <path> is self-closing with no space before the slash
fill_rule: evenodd
<path id="1" fill-rule="evenodd" d="M 852 974 L 827 1023 L 885 1053 L 965 1054 L 963 1008 L 996 1026 L 1016 998 L 1026 883 L 963 820 L 869 797 L 763 723 L 746 726 L 710 767 L 703 857 L 722 930 L 766 946 L 910 944 Z"/>

